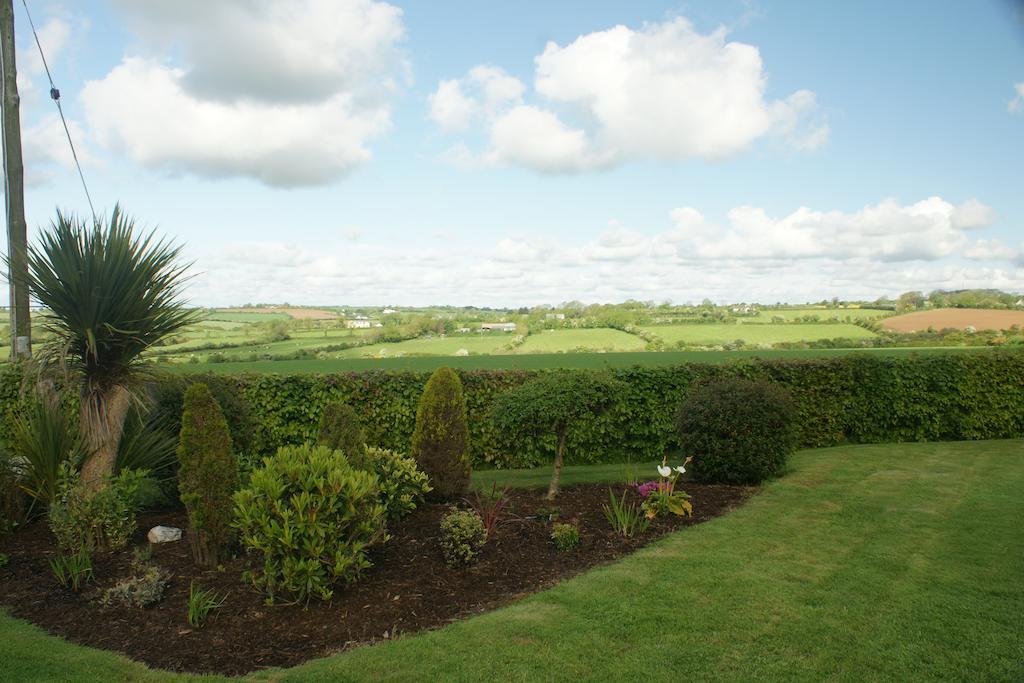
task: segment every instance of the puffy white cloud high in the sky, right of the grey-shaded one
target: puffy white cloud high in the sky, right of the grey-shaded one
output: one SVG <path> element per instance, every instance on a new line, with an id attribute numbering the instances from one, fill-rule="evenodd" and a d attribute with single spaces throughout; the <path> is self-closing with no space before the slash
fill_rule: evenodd
<path id="1" fill-rule="evenodd" d="M 518 81 L 501 70 L 513 96 L 481 94 L 473 70 L 438 84 L 431 117 L 446 131 L 477 121 L 490 138 L 484 159 L 545 172 L 718 160 L 767 136 L 803 151 L 823 144 L 828 126 L 815 94 L 767 99 L 760 51 L 726 38 L 725 29 L 703 35 L 680 17 L 550 42 L 535 58 L 540 101 L 522 102 Z"/>

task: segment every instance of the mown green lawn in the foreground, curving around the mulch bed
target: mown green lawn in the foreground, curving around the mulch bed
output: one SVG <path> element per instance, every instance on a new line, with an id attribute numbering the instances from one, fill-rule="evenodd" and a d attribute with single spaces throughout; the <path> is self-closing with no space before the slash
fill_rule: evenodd
<path id="1" fill-rule="evenodd" d="M 1022 680 L 1022 440 L 805 451 L 740 509 L 509 607 L 253 678 Z M 0 680 L 183 680 L 3 614 L 0 642 Z"/>

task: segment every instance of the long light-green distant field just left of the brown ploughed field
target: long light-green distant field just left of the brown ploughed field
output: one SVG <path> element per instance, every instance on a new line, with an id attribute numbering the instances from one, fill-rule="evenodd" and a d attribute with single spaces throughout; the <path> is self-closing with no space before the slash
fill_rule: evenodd
<path id="1" fill-rule="evenodd" d="M 818 339 L 868 339 L 874 333 L 847 323 L 831 324 L 757 324 L 731 325 L 708 323 L 702 325 L 663 325 L 641 328 L 644 332 L 662 338 L 667 344 L 680 342 L 694 345 L 726 344 L 742 339 L 748 344 L 775 344 L 778 342 L 816 341 Z"/>

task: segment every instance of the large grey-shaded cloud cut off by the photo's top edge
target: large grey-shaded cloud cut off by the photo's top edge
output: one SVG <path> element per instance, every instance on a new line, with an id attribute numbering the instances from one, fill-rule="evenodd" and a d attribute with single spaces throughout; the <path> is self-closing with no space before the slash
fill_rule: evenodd
<path id="1" fill-rule="evenodd" d="M 135 162 L 274 186 L 323 184 L 366 162 L 369 141 L 390 126 L 390 95 L 407 69 L 392 5 L 118 4 L 140 47 L 81 98 L 95 139 Z"/>

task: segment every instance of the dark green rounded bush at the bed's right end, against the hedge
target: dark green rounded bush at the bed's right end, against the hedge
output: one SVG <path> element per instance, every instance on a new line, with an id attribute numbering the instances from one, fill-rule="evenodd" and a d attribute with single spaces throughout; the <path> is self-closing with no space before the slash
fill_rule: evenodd
<path id="1" fill-rule="evenodd" d="M 764 381 L 723 379 L 698 386 L 679 409 L 683 452 L 695 475 L 716 483 L 756 484 L 778 475 L 796 450 L 790 393 Z"/>

